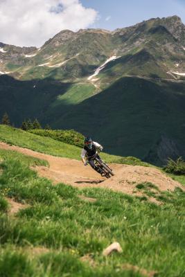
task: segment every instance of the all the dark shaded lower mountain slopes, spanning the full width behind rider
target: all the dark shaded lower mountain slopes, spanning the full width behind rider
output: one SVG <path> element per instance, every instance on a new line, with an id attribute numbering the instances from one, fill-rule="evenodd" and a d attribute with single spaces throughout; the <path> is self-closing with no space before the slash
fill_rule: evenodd
<path id="1" fill-rule="evenodd" d="M 0 77 L 0 83 L 0 114 L 7 111 L 16 125 L 37 117 L 42 125 L 76 129 L 102 141 L 109 154 L 134 156 L 160 166 L 168 157 L 185 157 L 184 82 L 125 77 L 88 99 L 85 91 L 93 93 L 91 86 L 21 82 L 7 76 Z M 175 147 L 169 149 L 175 153 L 168 151 L 163 137 L 173 141 Z"/>

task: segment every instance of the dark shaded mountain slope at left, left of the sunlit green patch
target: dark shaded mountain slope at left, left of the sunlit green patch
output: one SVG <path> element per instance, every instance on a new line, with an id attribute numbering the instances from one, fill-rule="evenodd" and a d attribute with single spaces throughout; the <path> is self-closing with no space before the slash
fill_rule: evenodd
<path id="1" fill-rule="evenodd" d="M 8 112 L 10 120 L 20 126 L 24 118 L 48 117 L 48 109 L 58 96 L 66 93 L 71 83 L 52 80 L 19 81 L 7 75 L 0 76 L 0 116 Z M 13 105 L 12 105 L 13 100 Z M 64 108 L 62 110 L 64 112 Z M 57 113 L 53 116 L 56 120 Z M 46 120 L 50 121 L 50 120 Z M 47 122 L 49 123 L 49 122 Z"/>

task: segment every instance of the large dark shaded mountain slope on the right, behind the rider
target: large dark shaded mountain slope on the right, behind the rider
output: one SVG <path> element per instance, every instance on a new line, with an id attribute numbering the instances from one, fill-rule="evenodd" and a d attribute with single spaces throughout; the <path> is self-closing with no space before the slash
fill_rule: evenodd
<path id="1" fill-rule="evenodd" d="M 69 113 L 61 112 L 53 124 L 90 134 L 103 141 L 109 153 L 161 164 L 169 154 L 165 157 L 162 145 L 164 160 L 158 156 L 162 136 L 174 141 L 179 155 L 185 154 L 184 109 L 184 83 L 121 78 Z"/>

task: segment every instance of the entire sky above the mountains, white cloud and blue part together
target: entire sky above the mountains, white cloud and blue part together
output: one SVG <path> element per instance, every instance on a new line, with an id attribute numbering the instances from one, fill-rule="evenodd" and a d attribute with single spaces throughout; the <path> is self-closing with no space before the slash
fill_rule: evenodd
<path id="1" fill-rule="evenodd" d="M 0 0 L 0 42 L 39 47 L 64 29 L 114 30 L 172 15 L 185 24 L 185 0 Z"/>

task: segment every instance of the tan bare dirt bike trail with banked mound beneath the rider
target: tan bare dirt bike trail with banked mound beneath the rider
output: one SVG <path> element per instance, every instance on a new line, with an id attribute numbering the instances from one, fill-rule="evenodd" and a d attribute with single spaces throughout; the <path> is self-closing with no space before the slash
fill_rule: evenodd
<path id="1" fill-rule="evenodd" d="M 55 184 L 62 182 L 78 188 L 110 188 L 128 194 L 135 193 L 136 184 L 143 182 L 155 184 L 161 191 L 173 191 L 175 187 L 184 190 L 184 187 L 181 184 L 170 177 L 167 177 L 156 168 L 127 166 L 112 163 L 111 168 L 114 170 L 115 176 L 110 179 L 105 179 L 96 171 L 92 170 L 90 166 L 84 166 L 81 161 L 54 157 L 49 154 L 42 154 L 26 148 L 19 148 L 13 145 L 10 146 L 2 142 L 0 142 L 0 148 L 15 150 L 28 156 L 48 161 L 50 165 L 49 168 L 45 166 L 37 166 L 36 170 L 39 173 L 39 176 L 49 178 Z M 135 195 L 141 195 L 141 193 L 137 191 Z"/>

